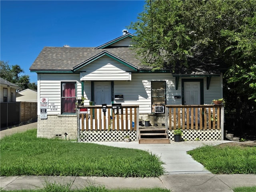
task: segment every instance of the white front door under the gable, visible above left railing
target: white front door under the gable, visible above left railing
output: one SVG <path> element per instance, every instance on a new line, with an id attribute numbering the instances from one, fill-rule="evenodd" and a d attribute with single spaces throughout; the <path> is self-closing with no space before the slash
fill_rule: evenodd
<path id="1" fill-rule="evenodd" d="M 94 82 L 94 104 L 111 105 L 111 82 Z"/>

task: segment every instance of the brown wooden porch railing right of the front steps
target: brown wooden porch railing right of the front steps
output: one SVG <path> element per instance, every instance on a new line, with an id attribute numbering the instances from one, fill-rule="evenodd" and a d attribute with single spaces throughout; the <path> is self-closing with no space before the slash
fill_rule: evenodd
<path id="1" fill-rule="evenodd" d="M 166 124 L 169 130 L 222 130 L 223 139 L 224 105 L 166 105 Z"/>

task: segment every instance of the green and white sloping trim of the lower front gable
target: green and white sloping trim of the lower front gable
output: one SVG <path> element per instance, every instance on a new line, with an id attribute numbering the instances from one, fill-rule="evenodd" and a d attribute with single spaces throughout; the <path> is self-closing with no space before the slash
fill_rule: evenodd
<path id="1" fill-rule="evenodd" d="M 101 52 L 101 53 L 95 55 L 94 57 L 92 57 L 92 58 L 90 58 L 90 59 L 88 59 L 88 60 L 82 62 L 81 64 L 75 66 L 75 67 L 73 68 L 73 70 L 74 70 L 74 71 L 77 71 L 77 70 L 81 69 L 82 67 L 84 67 L 84 66 L 86 66 L 86 65 L 88 65 L 88 64 L 90 64 L 90 63 L 92 63 L 92 62 L 94 62 L 94 61 L 96 61 L 96 60 L 98 60 L 98 59 L 100 59 L 100 58 L 102 58 L 103 56 L 108 56 L 109 58 L 112 58 L 113 60 L 115 60 L 115 61 L 117 61 L 117 62 L 119 62 L 119 63 L 121 63 L 121 64 L 127 66 L 128 68 L 130 68 L 130 69 L 133 70 L 133 71 L 137 71 L 137 70 L 138 70 L 138 67 L 136 67 L 136 66 L 134 66 L 134 65 L 132 65 L 132 64 L 130 64 L 130 63 L 128 63 L 128 62 L 126 62 L 125 60 L 122 60 L 121 58 L 119 58 L 119 57 L 117 57 L 117 56 L 111 54 L 110 52 L 108 52 L 108 51 L 106 51 L 106 50 L 104 50 L 103 52 Z"/>

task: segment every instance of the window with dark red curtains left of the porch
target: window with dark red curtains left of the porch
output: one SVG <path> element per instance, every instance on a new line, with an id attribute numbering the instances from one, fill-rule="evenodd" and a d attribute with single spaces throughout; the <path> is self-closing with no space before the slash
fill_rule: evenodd
<path id="1" fill-rule="evenodd" d="M 62 113 L 76 113 L 76 82 L 61 83 Z"/>

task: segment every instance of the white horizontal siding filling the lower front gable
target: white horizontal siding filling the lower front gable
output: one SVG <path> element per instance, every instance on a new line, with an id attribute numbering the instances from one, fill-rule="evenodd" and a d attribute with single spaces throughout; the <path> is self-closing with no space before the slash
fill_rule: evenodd
<path id="1" fill-rule="evenodd" d="M 108 56 L 103 56 L 102 58 L 88 64 L 80 71 L 80 79 L 84 81 L 92 80 L 130 80 L 131 74 L 126 71 L 131 69 L 124 64 L 121 64 Z"/>

